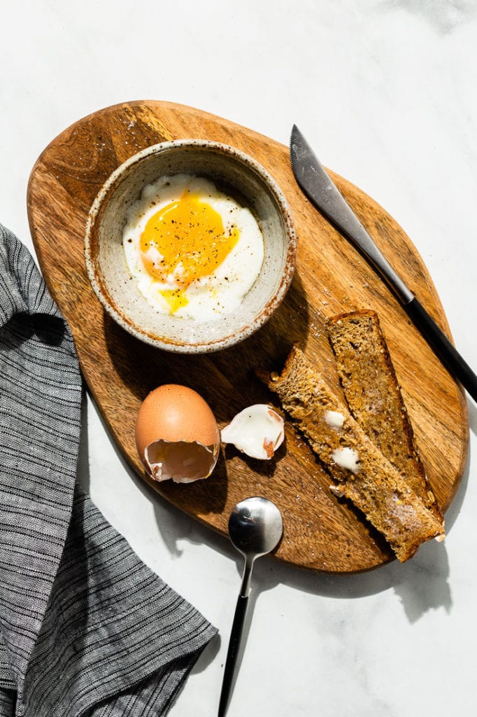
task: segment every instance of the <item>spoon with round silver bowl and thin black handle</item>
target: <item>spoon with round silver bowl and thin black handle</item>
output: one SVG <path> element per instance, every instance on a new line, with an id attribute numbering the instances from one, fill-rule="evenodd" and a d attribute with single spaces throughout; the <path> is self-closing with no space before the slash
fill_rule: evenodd
<path id="1" fill-rule="evenodd" d="M 271 552 L 279 543 L 283 533 L 281 514 L 275 503 L 266 498 L 246 498 L 237 503 L 228 519 L 228 534 L 233 546 L 244 556 L 244 574 L 237 607 L 233 616 L 230 641 L 221 698 L 218 705 L 218 717 L 226 713 L 228 698 L 231 693 L 233 675 L 240 647 L 245 614 L 249 602 L 251 572 L 256 558 Z"/>

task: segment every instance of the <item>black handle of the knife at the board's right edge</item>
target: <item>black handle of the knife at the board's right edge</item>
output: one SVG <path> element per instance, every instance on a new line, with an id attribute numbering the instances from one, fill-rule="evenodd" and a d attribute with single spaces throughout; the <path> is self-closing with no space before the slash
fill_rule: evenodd
<path id="1" fill-rule="evenodd" d="M 463 387 L 468 391 L 474 401 L 477 402 L 477 376 L 471 367 L 466 364 L 461 354 L 456 350 L 455 346 L 450 343 L 445 333 L 440 330 L 435 320 L 427 313 L 418 299 L 413 298 L 409 303 L 404 305 L 404 309 L 410 320 L 423 334 L 426 341 L 434 349 L 437 356 L 441 359 L 453 376 L 461 381 Z"/>

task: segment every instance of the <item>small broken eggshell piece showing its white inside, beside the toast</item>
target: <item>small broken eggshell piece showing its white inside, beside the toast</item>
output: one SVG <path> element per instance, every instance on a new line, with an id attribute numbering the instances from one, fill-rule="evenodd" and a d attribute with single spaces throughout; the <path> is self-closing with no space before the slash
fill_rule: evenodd
<path id="1" fill-rule="evenodd" d="M 267 404 L 254 404 L 236 414 L 221 439 L 251 458 L 269 460 L 284 440 L 284 421 Z"/>

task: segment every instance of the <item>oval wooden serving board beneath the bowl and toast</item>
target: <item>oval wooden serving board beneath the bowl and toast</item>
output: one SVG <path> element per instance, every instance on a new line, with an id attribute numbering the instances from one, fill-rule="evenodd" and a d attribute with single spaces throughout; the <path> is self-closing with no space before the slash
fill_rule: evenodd
<path id="1" fill-rule="evenodd" d="M 87 212 L 102 183 L 129 156 L 178 138 L 220 141 L 258 160 L 284 191 L 299 242 L 294 280 L 276 315 L 245 343 L 205 356 L 158 351 L 116 326 L 92 291 L 83 258 Z M 382 252 L 449 334 L 430 276 L 403 229 L 360 189 L 332 176 Z M 286 442 L 274 460 L 251 460 L 228 446 L 210 478 L 188 485 L 151 483 L 135 450 L 140 403 L 163 383 L 196 389 L 219 427 L 250 404 L 276 405 L 254 369 L 280 370 L 294 341 L 339 391 L 324 320 L 359 308 L 380 315 L 430 483 L 441 508 L 448 507 L 468 450 L 463 391 L 367 262 L 304 198 L 286 146 L 183 105 L 124 103 L 83 118 L 52 141 L 32 170 L 28 210 L 42 272 L 71 327 L 87 385 L 113 439 L 143 479 L 181 511 L 226 535 L 233 505 L 249 495 L 264 495 L 284 518 L 277 558 L 339 573 L 392 559 L 366 521 L 329 492 L 327 473 L 288 423 Z"/>

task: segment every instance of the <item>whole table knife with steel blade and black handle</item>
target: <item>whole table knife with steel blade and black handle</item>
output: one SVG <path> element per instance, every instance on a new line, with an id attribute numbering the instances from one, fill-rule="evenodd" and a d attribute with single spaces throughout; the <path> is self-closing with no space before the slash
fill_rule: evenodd
<path id="1" fill-rule="evenodd" d="M 461 381 L 464 388 L 477 402 L 476 374 L 382 255 L 370 234 L 362 226 L 355 212 L 319 162 L 297 125 L 293 125 L 291 130 L 290 158 L 295 179 L 304 194 L 324 214 L 324 217 L 329 219 L 329 222 L 334 224 L 365 255 L 395 293 L 410 320 L 433 348 L 436 356 L 448 371 L 458 381 Z"/>

